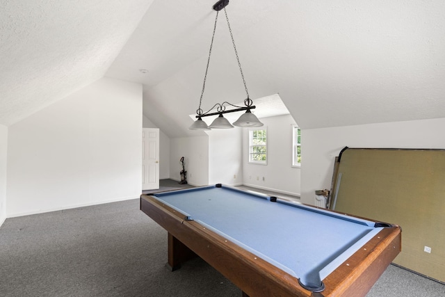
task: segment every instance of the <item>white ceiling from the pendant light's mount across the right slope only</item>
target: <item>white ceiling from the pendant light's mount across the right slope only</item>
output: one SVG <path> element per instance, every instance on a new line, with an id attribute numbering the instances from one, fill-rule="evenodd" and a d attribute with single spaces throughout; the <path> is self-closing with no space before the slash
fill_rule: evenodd
<path id="1" fill-rule="evenodd" d="M 154 1 L 106 74 L 144 83 L 144 114 L 171 137 L 202 134 L 187 127 L 213 2 Z M 279 93 L 303 129 L 445 117 L 445 1 L 232 0 L 226 9 L 250 97 Z M 202 106 L 244 98 L 220 13 Z"/>

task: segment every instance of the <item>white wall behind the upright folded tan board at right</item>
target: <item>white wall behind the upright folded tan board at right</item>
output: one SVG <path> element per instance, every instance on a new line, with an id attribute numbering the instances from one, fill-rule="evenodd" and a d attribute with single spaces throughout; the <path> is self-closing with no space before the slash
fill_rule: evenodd
<path id="1" fill-rule="evenodd" d="M 445 149 L 445 118 L 302 130 L 302 202 L 330 189 L 335 156 L 343 147 Z"/>

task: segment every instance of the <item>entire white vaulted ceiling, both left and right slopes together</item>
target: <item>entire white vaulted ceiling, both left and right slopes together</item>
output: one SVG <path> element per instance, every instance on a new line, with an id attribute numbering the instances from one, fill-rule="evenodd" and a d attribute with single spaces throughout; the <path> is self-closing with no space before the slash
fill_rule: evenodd
<path id="1" fill-rule="evenodd" d="M 143 83 L 143 113 L 168 136 L 201 135 L 187 128 L 214 2 L 1 1 L 0 124 L 106 76 Z M 226 9 L 250 98 L 278 93 L 302 129 L 445 118 L 442 0 L 232 0 Z M 202 107 L 243 99 L 221 11 Z"/>

